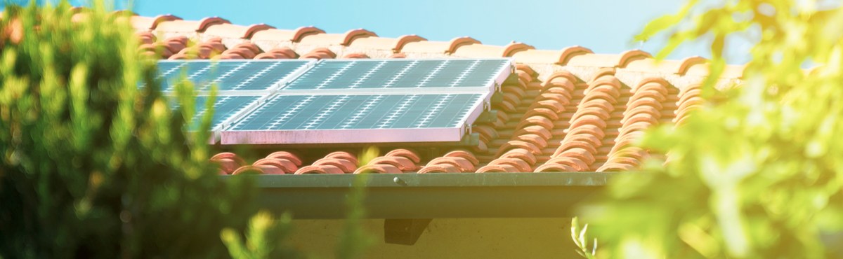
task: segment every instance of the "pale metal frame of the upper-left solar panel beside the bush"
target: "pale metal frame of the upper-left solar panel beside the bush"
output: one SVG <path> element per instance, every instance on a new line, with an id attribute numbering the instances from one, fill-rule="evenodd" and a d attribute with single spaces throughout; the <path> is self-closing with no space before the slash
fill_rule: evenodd
<path id="1" fill-rule="evenodd" d="M 162 80 L 164 80 L 164 86 L 169 85 L 169 83 L 167 82 L 169 75 L 171 73 L 180 73 L 180 71 L 182 69 L 182 66 L 170 67 L 171 64 L 191 64 L 191 63 L 242 63 L 242 64 L 247 64 L 247 63 L 285 63 L 285 62 L 291 62 L 291 63 L 293 63 L 293 62 L 294 63 L 303 62 L 303 64 L 301 66 L 298 66 L 297 68 L 293 69 L 293 71 L 288 73 L 286 76 L 278 79 L 276 82 L 273 82 L 269 87 L 266 87 L 264 89 L 260 89 L 260 90 L 218 90 L 217 95 L 218 96 L 244 96 L 244 95 L 245 96 L 251 96 L 251 95 L 261 95 L 261 94 L 269 95 L 269 94 L 275 93 L 275 92 L 278 91 L 278 89 L 286 86 L 290 82 L 293 82 L 298 77 L 301 77 L 304 74 L 304 72 L 309 71 L 311 68 L 316 66 L 318 60 L 316 60 L 316 59 L 300 59 L 300 60 L 213 60 L 213 61 L 208 61 L 208 60 L 175 60 L 175 61 L 169 61 L 169 60 L 166 60 L 166 61 L 158 61 L 159 67 L 160 66 L 169 67 L 168 71 L 158 71 L 158 73 L 159 73 L 158 78 L 161 78 Z M 266 68 L 266 69 L 269 69 L 269 68 Z M 226 71 L 217 71 L 217 73 L 219 73 L 219 75 L 217 75 L 215 77 L 212 77 L 212 79 L 209 79 L 209 82 L 219 79 L 219 77 L 222 77 L 223 74 L 226 73 Z M 164 75 L 161 75 L 161 74 L 164 74 Z M 188 76 L 191 76 L 191 75 L 189 74 Z M 250 76 L 250 77 L 254 77 L 254 76 Z M 197 83 L 197 82 L 194 82 L 194 83 Z M 198 82 L 198 83 L 207 83 L 207 82 Z M 164 89 L 162 89 L 162 91 L 164 92 L 165 95 L 175 95 L 175 91 L 169 90 L 168 87 L 164 87 L 164 86 L 163 86 Z M 204 88 L 206 86 L 197 86 L 197 87 L 200 88 L 200 89 L 197 89 L 197 91 L 196 91 L 197 94 L 199 94 L 199 95 L 201 95 L 201 94 L 207 95 L 211 92 L 210 90 L 201 90 L 201 88 Z"/>

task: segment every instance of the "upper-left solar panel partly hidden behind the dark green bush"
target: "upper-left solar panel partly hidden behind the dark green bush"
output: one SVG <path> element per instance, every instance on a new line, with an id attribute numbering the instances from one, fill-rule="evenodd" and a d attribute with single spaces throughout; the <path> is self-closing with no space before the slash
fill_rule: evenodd
<path id="1" fill-rule="evenodd" d="M 221 94 L 254 94 L 282 87 L 313 64 L 312 60 L 158 61 L 158 77 L 165 92 L 175 91 L 175 81 L 184 75 L 200 92 L 216 84 Z"/>

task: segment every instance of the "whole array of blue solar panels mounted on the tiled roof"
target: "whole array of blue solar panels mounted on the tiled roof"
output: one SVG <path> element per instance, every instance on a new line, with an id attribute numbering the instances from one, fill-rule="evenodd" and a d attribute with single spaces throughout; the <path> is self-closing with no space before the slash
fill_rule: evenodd
<path id="1" fill-rule="evenodd" d="M 200 92 L 191 130 L 217 85 L 223 145 L 459 141 L 511 72 L 508 59 L 158 64 L 165 92 L 182 76 Z"/>

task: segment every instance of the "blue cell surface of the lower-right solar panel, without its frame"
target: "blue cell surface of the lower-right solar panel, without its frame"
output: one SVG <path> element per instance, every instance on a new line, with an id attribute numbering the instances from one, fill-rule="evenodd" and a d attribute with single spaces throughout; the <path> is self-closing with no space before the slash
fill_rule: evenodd
<path id="1" fill-rule="evenodd" d="M 279 95 L 227 131 L 458 128 L 481 94 Z"/>

